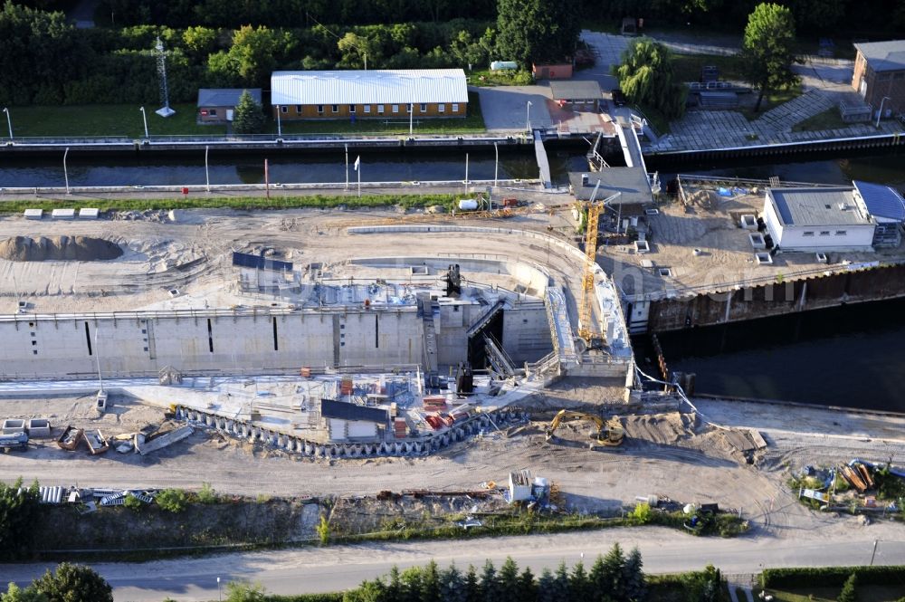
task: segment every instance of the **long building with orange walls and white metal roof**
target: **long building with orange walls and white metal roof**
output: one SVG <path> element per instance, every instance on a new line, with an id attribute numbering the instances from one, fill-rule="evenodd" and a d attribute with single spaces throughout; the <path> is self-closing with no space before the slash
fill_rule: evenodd
<path id="1" fill-rule="evenodd" d="M 462 69 L 273 72 L 273 117 L 281 119 L 409 119 L 465 117 Z"/>

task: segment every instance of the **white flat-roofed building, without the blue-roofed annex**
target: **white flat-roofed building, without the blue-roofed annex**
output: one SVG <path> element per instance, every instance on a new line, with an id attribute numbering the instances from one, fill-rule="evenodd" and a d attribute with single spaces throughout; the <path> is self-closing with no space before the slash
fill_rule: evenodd
<path id="1" fill-rule="evenodd" d="M 872 251 L 876 220 L 849 186 L 768 188 L 764 222 L 781 251 Z"/>

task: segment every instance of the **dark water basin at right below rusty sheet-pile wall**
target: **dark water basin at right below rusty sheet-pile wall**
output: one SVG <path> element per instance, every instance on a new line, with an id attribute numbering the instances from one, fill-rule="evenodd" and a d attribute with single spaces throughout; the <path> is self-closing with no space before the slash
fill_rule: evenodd
<path id="1" fill-rule="evenodd" d="M 695 391 L 905 413 L 905 300 L 875 301 L 658 335 Z M 647 335 L 633 340 L 656 376 Z"/>

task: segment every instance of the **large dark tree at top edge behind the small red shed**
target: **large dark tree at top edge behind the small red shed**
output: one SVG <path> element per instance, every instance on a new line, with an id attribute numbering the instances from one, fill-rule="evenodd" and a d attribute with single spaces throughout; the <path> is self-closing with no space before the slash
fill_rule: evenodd
<path id="1" fill-rule="evenodd" d="M 497 54 L 504 61 L 563 61 L 575 52 L 580 25 L 572 2 L 498 0 Z"/>

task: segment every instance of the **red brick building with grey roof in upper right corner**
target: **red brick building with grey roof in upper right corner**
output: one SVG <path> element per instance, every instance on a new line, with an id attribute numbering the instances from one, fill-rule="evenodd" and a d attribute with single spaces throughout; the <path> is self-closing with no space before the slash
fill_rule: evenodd
<path id="1" fill-rule="evenodd" d="M 883 117 L 905 113 L 905 40 L 856 43 L 852 87 L 876 116 L 883 105 Z M 887 100 L 883 100 L 886 98 Z"/>

